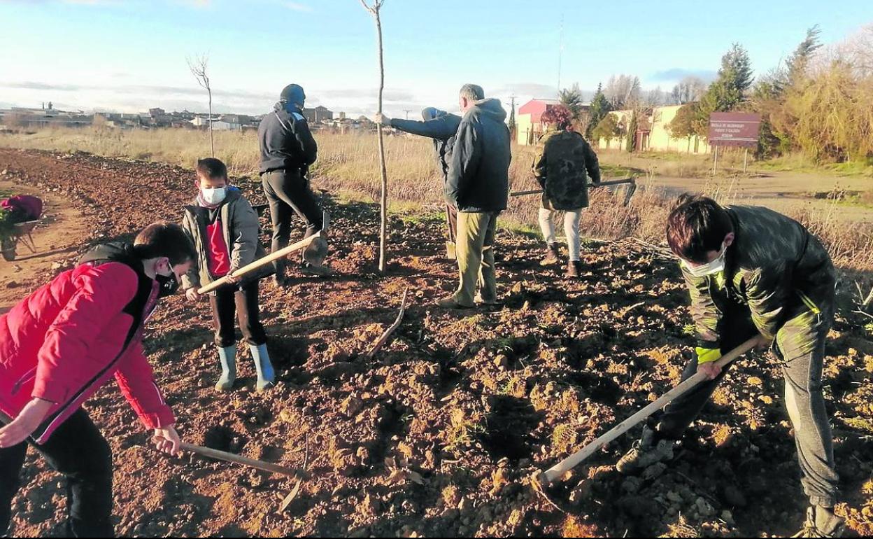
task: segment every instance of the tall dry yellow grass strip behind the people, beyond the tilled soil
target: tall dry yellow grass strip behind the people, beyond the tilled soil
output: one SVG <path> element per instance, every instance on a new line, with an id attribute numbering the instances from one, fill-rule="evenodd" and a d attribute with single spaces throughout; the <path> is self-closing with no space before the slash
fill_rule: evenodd
<path id="1" fill-rule="evenodd" d="M 313 167 L 313 184 L 334 193 L 354 193 L 377 200 L 379 169 L 376 140 L 370 134 L 318 133 L 319 161 Z M 169 162 L 192 168 L 198 157 L 209 155 L 209 135 L 186 129 L 119 130 L 113 128 L 45 129 L 31 134 L 0 135 L 0 146 L 21 149 L 47 149 L 65 152 L 86 151 L 97 155 L 131 157 Z M 217 157 L 227 163 L 231 176 L 257 177 L 258 137 L 254 132 L 217 132 Z M 537 187 L 531 174 L 531 147 L 512 148 L 510 179 L 512 190 Z M 604 177 L 627 176 L 630 170 L 654 170 L 663 176 L 701 178 L 698 190 L 720 202 L 730 204 L 735 198 L 730 182 L 711 180 L 709 155 L 643 154 L 632 155 L 601 150 Z M 389 177 L 389 200 L 410 210 L 422 206 L 438 209 L 443 204 L 443 185 L 436 169 L 433 145 L 421 137 L 397 135 L 386 137 Z M 726 153 L 720 160 L 725 167 L 742 161 L 739 152 Z M 873 192 L 864 197 L 873 197 Z M 583 212 L 582 227 L 588 237 L 622 238 L 636 236 L 662 243 L 663 226 L 671 201 L 656 190 L 639 190 L 629 207 L 622 206 L 623 191 L 612 196 L 596 190 L 591 207 Z M 866 198 L 865 198 L 866 200 Z M 536 232 L 540 197 L 514 197 L 503 215 L 504 226 L 514 231 Z M 396 206 L 395 206 L 396 207 Z M 857 225 L 836 218 L 840 204 L 830 204 L 825 211 L 809 211 L 799 204 L 787 213 L 808 226 L 826 245 L 835 263 L 844 269 L 870 272 L 873 269 L 873 227 Z"/>

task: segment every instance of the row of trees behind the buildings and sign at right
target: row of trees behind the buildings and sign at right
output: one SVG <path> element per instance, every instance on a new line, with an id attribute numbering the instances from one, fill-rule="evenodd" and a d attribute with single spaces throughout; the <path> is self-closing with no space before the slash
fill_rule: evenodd
<path id="1" fill-rule="evenodd" d="M 676 138 L 705 138 L 713 112 L 754 112 L 762 118 L 760 157 L 800 151 L 817 162 L 873 159 L 873 24 L 838 45 L 822 46 L 820 33 L 810 28 L 780 66 L 757 80 L 746 49 L 734 44 L 708 86 L 688 77 L 670 93 L 643 92 L 638 78 L 616 75 L 598 86 L 588 114 L 578 86 L 560 97 L 579 111 L 577 128 L 588 138 L 626 137 L 628 149 L 647 110 L 677 104 L 683 107 L 668 126 Z M 620 109 L 632 111 L 627 125 L 608 114 Z"/>

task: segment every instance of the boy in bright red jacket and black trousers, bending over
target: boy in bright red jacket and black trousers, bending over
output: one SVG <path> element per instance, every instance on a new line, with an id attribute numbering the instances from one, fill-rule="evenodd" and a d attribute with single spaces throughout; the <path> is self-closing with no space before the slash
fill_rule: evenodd
<path id="1" fill-rule="evenodd" d="M 108 244 L 0 316 L 0 534 L 30 443 L 67 483 L 68 534 L 113 536 L 112 453 L 81 404 L 115 377 L 153 442 L 178 453 L 175 417 L 142 353 L 142 328 L 196 257 L 178 225 Z M 13 418 L 9 422 L 9 418 Z"/>

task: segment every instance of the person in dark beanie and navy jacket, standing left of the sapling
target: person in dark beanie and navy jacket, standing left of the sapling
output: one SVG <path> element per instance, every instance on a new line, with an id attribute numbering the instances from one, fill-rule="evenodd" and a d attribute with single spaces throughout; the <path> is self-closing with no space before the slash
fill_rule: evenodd
<path id="1" fill-rule="evenodd" d="M 288 245 L 294 213 L 306 222 L 306 238 L 324 225 L 323 213 L 309 188 L 307 177 L 309 165 L 318 155 L 318 145 L 303 115 L 304 100 L 306 93 L 302 87 L 296 84 L 285 86 L 272 113 L 266 114 L 258 127 L 261 183 L 270 203 L 273 225 L 272 252 Z M 327 272 L 320 266 L 320 261 L 307 258 L 304 252 L 304 272 Z M 279 259 L 274 265 L 276 282 L 282 285 L 285 283 L 286 259 Z"/>

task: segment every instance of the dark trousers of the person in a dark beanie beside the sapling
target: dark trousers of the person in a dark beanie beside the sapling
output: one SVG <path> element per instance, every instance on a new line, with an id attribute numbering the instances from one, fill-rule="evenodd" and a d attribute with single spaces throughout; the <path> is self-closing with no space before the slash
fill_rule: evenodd
<path id="1" fill-rule="evenodd" d="M 265 172 L 261 175 L 261 184 L 264 186 L 267 202 L 270 203 L 272 252 L 288 245 L 291 238 L 291 219 L 295 213 L 306 222 L 306 238 L 321 230 L 324 216 L 312 190 L 309 189 L 309 182 L 300 176 L 299 170 L 279 169 Z M 273 263 L 278 278 L 285 277 L 286 262 L 282 258 Z"/>

